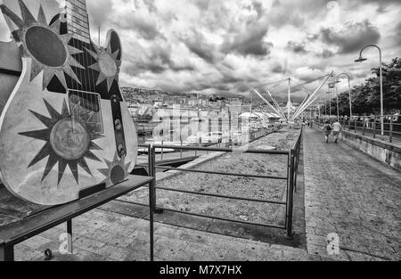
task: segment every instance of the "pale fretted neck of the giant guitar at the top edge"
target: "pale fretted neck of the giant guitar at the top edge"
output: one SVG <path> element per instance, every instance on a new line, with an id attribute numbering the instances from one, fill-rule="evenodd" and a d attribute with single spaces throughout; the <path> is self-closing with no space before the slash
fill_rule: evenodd
<path id="1" fill-rule="evenodd" d="M 69 33 L 87 44 L 90 44 L 89 19 L 86 0 L 66 0 L 67 25 Z"/>

